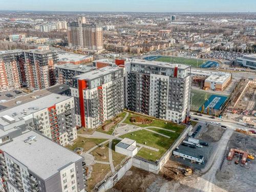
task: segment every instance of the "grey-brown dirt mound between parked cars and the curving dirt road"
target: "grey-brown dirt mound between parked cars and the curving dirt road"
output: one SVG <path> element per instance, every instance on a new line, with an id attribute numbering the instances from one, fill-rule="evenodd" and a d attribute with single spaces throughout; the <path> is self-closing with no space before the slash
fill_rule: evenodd
<path id="1" fill-rule="evenodd" d="M 225 129 L 223 129 L 220 126 L 207 125 L 207 131 L 204 132 L 199 137 L 199 139 L 202 139 L 204 141 L 209 141 L 209 142 L 217 142 L 220 140 L 224 132 L 225 132 Z"/>

